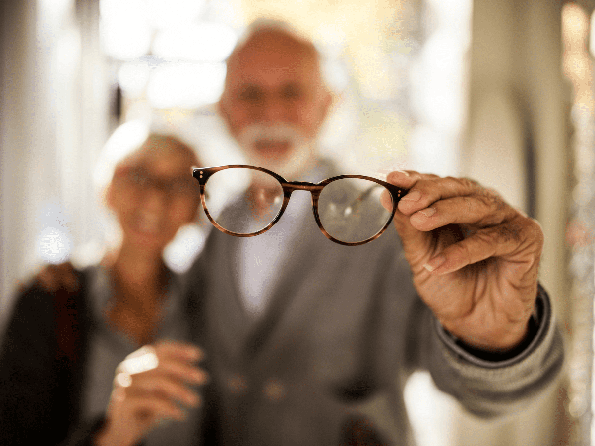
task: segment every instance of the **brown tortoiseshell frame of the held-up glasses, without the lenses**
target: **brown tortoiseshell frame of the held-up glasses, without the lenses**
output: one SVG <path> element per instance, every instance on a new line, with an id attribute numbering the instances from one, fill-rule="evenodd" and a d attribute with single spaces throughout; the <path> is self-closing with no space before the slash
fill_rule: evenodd
<path id="1" fill-rule="evenodd" d="M 271 177 L 274 177 L 275 180 L 277 180 L 279 182 L 279 184 L 281 184 L 281 187 L 283 188 L 283 204 L 281 205 L 281 209 L 277 213 L 277 216 L 275 216 L 273 221 L 271 221 L 270 224 L 267 225 L 267 227 L 262 228 L 261 230 L 256 231 L 254 233 L 239 234 L 239 233 L 234 233 L 234 232 L 228 231 L 225 228 L 222 228 L 220 225 L 217 224 L 215 219 L 212 218 L 211 214 L 209 213 L 209 210 L 206 207 L 206 202 L 205 202 L 206 182 L 209 180 L 209 178 L 213 174 L 216 174 L 217 172 L 225 170 L 225 169 L 234 169 L 234 168 L 252 169 L 252 170 L 264 172 L 265 174 L 268 174 L 268 175 L 271 175 Z M 273 225 L 279 221 L 279 219 L 281 218 L 281 215 L 283 215 L 283 211 L 285 211 L 285 208 L 287 207 L 287 203 L 289 203 L 289 198 L 290 198 L 292 192 L 296 191 L 296 190 L 307 190 L 312 194 L 312 212 L 314 212 L 314 219 L 316 220 L 316 223 L 318 224 L 318 228 L 320 228 L 322 234 L 324 234 L 325 237 L 327 237 L 329 240 L 332 240 L 335 243 L 343 244 L 346 246 L 357 246 L 360 244 L 368 243 L 369 241 L 375 240 L 375 238 L 380 237 L 380 235 L 386 230 L 386 228 L 389 227 L 390 222 L 393 221 L 394 212 L 396 212 L 397 204 L 399 203 L 399 200 L 401 199 L 401 197 L 405 196 L 408 193 L 408 190 L 403 189 L 402 187 L 394 186 L 393 184 L 387 183 L 386 181 L 378 180 L 377 178 L 365 177 L 364 175 L 339 175 L 337 177 L 327 178 L 326 180 L 320 181 L 320 183 L 314 184 L 314 183 L 308 183 L 306 181 L 287 181 L 280 175 L 277 175 L 277 174 L 275 174 L 275 172 L 271 172 L 268 169 L 265 169 L 262 167 L 251 166 L 251 165 L 245 165 L 245 164 L 229 164 L 229 165 L 217 166 L 217 167 L 193 168 L 192 176 L 195 177 L 196 180 L 198 180 L 198 183 L 201 186 L 201 202 L 202 202 L 202 208 L 205 210 L 206 216 L 211 221 L 211 223 L 214 225 L 214 227 L 223 233 L 226 233 L 229 235 L 235 235 L 236 237 L 253 237 L 254 235 L 259 235 L 259 234 L 265 233 L 266 231 L 270 230 L 270 228 L 273 227 Z M 377 183 L 377 184 L 380 184 L 380 186 L 383 186 L 386 190 L 389 191 L 389 193 L 392 196 L 393 209 L 390 213 L 390 218 L 388 219 L 388 221 L 386 222 L 384 227 L 380 231 L 378 231 L 378 233 L 374 234 L 370 238 L 367 238 L 366 240 L 355 241 L 355 242 L 337 240 L 332 235 L 328 234 L 327 231 L 325 231 L 324 227 L 322 227 L 322 223 L 320 222 L 320 216 L 318 215 L 318 197 L 320 197 L 320 193 L 321 193 L 322 189 L 325 186 L 327 186 L 327 184 L 330 184 L 336 180 L 343 180 L 344 178 L 359 178 L 361 180 L 372 181 L 373 183 Z"/>

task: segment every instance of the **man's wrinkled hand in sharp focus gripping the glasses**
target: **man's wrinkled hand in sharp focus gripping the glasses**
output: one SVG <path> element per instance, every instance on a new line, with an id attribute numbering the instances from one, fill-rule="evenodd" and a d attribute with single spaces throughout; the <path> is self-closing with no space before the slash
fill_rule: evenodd
<path id="1" fill-rule="evenodd" d="M 543 231 L 495 191 L 464 178 L 392 172 L 409 189 L 394 225 L 415 288 L 450 333 L 504 352 L 527 334 Z"/>

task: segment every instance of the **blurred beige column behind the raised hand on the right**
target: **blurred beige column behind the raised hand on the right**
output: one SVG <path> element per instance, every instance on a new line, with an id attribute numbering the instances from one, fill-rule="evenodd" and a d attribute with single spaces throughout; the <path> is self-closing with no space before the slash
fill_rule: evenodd
<path id="1" fill-rule="evenodd" d="M 570 302 L 563 234 L 568 194 L 569 95 L 562 80 L 562 2 L 475 0 L 468 147 L 464 174 L 533 211 L 546 234 L 540 281 L 568 326 Z M 535 159 L 534 202 L 527 150 Z M 546 446 L 565 429 L 564 390 L 554 388 L 525 412 L 486 423 L 459 414 L 461 446 Z"/>

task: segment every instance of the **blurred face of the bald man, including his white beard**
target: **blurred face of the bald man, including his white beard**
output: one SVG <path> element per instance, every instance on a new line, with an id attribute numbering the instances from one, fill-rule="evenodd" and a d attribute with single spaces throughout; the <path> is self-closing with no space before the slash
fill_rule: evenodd
<path id="1" fill-rule="evenodd" d="M 288 180 L 315 160 L 331 96 L 313 48 L 284 33 L 253 34 L 228 63 L 221 114 L 249 162 Z"/>

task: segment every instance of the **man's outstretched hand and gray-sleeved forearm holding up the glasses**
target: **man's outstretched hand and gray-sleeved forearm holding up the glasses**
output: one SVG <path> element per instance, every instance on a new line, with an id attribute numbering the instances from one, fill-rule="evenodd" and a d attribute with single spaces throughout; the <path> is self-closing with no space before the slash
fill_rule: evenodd
<path id="1" fill-rule="evenodd" d="M 537 283 L 540 225 L 466 178 L 408 171 L 388 181 L 409 189 L 394 224 L 422 301 L 412 311 L 411 364 L 478 415 L 526 403 L 563 362 Z"/>

